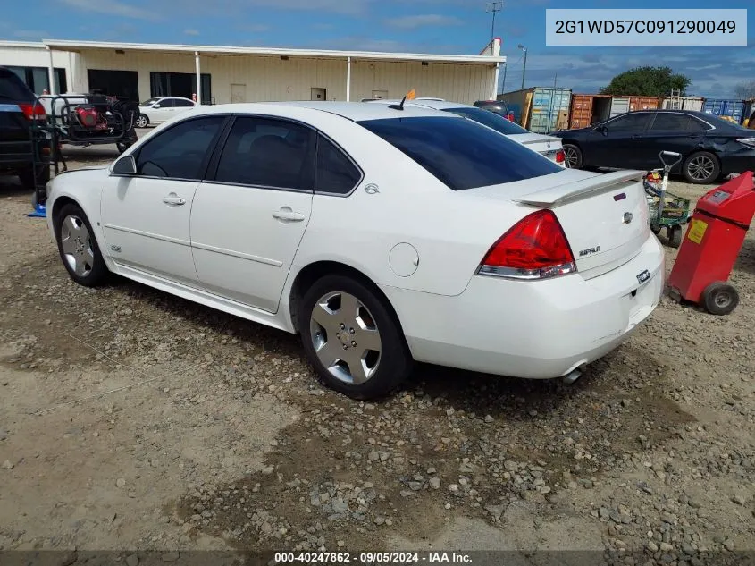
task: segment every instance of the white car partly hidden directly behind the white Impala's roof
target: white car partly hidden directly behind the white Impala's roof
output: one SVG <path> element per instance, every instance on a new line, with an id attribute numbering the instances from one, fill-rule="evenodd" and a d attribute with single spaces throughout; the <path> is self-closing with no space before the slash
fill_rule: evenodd
<path id="1" fill-rule="evenodd" d="M 369 104 L 396 105 L 401 101 L 370 100 L 368 102 Z M 480 122 L 482 125 L 488 126 L 488 128 L 492 128 L 493 130 L 518 141 L 527 148 L 537 151 L 542 156 L 548 157 L 551 161 L 558 163 L 558 165 L 566 167 L 566 156 L 564 155 L 564 150 L 561 146 L 561 139 L 524 130 L 524 128 L 516 123 L 507 120 L 500 114 L 494 114 L 490 110 L 478 108 L 477 106 L 459 104 L 457 102 L 449 102 L 442 98 L 415 98 L 413 100 L 407 100 L 404 104 L 405 106 L 424 106 L 425 108 L 434 108 L 435 110 L 458 114 L 463 118 L 474 120 L 474 122 Z"/>

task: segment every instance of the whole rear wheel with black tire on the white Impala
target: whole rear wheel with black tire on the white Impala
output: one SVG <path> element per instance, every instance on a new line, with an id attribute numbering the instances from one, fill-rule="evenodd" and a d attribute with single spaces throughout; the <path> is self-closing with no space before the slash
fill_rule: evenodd
<path id="1" fill-rule="evenodd" d="M 352 399 L 374 399 L 390 393 L 411 372 L 413 360 L 398 319 L 364 283 L 326 275 L 306 291 L 300 313 L 306 356 L 331 389 Z"/>

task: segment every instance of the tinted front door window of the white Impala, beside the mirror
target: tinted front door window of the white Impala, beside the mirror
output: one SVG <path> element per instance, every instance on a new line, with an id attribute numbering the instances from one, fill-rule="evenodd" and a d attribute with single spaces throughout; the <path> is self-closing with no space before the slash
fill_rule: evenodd
<path id="1" fill-rule="evenodd" d="M 212 148 L 225 116 L 187 120 L 150 139 L 138 151 L 137 173 L 151 177 L 199 179 L 207 151 Z"/>

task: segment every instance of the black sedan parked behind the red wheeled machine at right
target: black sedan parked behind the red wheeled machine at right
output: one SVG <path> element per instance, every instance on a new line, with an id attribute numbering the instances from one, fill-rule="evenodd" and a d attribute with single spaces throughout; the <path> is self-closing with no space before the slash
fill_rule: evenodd
<path id="1" fill-rule="evenodd" d="M 580 130 L 552 135 L 563 139 L 566 166 L 650 170 L 663 150 L 682 154 L 672 173 L 689 182 L 710 183 L 729 173 L 755 170 L 755 135 L 712 114 L 652 110 L 618 116 Z"/>

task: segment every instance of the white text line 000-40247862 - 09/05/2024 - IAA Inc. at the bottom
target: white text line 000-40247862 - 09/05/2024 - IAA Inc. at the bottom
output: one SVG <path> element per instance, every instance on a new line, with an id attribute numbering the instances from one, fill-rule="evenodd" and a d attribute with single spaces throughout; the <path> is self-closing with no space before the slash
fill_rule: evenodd
<path id="1" fill-rule="evenodd" d="M 278 564 L 417 564 L 417 563 L 457 563 L 471 564 L 472 557 L 458 552 L 428 553 L 275 553 L 273 560 Z"/>

